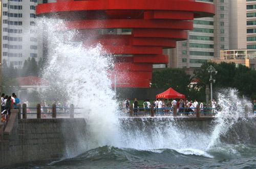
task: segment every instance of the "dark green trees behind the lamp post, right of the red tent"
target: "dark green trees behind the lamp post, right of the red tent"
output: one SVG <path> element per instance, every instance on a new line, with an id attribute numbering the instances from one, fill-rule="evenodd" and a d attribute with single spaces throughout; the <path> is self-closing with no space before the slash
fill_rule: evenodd
<path id="1" fill-rule="evenodd" d="M 236 65 L 235 63 L 221 62 L 220 64 L 206 62 L 194 71 L 194 78 L 199 80 L 197 84 L 199 88 L 205 90 L 206 85 L 209 85 L 209 73 L 207 68 L 212 65 L 214 66 L 218 74 L 213 75 L 216 83 L 213 85 L 214 90 L 221 88 L 237 88 L 241 94 L 253 97 L 255 95 L 256 88 L 253 88 L 255 81 L 255 70 L 252 70 L 244 65 Z"/>

